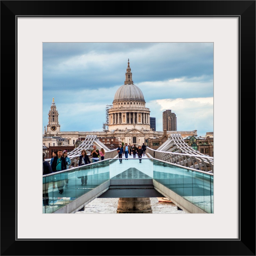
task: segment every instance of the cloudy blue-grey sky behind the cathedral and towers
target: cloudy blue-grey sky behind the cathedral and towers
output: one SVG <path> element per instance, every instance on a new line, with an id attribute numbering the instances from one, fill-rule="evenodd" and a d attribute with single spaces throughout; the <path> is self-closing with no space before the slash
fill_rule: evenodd
<path id="1" fill-rule="evenodd" d="M 213 132 L 213 43 L 43 43 L 43 132 L 54 98 L 61 131 L 102 131 L 128 59 L 156 130 Z"/>

